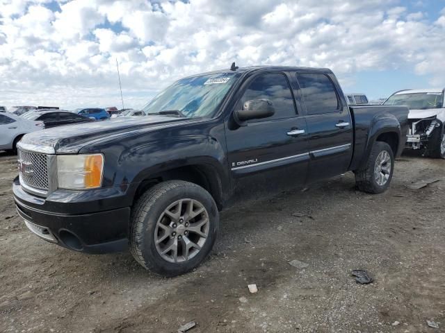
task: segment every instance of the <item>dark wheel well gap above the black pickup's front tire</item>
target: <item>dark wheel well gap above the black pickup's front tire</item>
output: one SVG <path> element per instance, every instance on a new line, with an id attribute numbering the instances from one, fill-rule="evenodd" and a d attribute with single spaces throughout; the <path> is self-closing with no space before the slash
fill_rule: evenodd
<path id="1" fill-rule="evenodd" d="M 213 167 L 205 164 L 187 165 L 150 176 L 150 178 L 140 183 L 133 198 L 133 203 L 136 203 L 136 200 L 148 189 L 166 180 L 185 180 L 200 185 L 210 193 L 219 210 L 223 207 L 223 189 L 220 177 Z"/>

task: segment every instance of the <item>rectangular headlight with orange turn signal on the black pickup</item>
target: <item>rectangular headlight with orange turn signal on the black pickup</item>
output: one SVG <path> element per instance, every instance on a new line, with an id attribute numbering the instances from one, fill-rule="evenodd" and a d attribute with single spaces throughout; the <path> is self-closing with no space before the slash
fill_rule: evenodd
<path id="1" fill-rule="evenodd" d="M 58 155 L 57 179 L 59 189 L 95 189 L 102 185 L 104 156 Z"/>

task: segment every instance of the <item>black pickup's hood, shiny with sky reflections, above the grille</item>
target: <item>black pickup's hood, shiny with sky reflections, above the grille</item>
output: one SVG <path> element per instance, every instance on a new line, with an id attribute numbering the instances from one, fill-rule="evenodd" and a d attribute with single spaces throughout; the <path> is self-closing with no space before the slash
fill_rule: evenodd
<path id="1" fill-rule="evenodd" d="M 40 130 L 24 135 L 20 144 L 39 151 L 54 153 L 78 153 L 91 142 L 99 140 L 122 139 L 131 133 L 146 133 L 159 128 L 181 126 L 202 119 L 185 119 L 166 116 L 122 117 L 106 121 L 92 121 L 69 126 Z"/>

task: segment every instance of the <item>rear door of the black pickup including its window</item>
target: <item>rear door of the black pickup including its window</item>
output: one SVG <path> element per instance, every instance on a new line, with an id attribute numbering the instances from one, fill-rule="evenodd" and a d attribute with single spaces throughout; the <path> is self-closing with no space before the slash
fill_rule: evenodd
<path id="1" fill-rule="evenodd" d="M 353 122 L 335 78 L 324 73 L 298 73 L 309 131 L 308 181 L 348 171 L 353 153 Z"/>

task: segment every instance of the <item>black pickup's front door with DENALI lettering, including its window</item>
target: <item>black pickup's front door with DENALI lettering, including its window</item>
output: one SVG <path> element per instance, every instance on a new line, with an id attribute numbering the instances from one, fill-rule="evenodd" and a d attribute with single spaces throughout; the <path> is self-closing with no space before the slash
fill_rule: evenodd
<path id="1" fill-rule="evenodd" d="M 298 112 L 286 73 L 250 77 L 236 108 L 246 101 L 268 99 L 275 114 L 248 121 L 247 126 L 226 126 L 229 167 L 235 196 L 261 196 L 264 192 L 295 187 L 306 180 L 308 167 L 307 126 Z"/>

